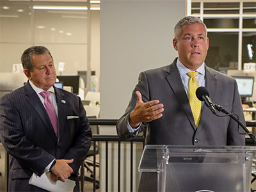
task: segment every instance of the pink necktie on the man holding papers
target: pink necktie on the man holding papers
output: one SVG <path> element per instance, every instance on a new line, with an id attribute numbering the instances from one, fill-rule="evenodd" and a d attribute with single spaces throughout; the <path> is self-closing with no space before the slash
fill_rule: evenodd
<path id="1" fill-rule="evenodd" d="M 44 97 L 45 109 L 46 109 L 48 116 L 51 120 L 52 126 L 54 128 L 54 132 L 55 132 L 56 136 L 58 136 L 58 118 L 57 118 L 54 106 L 52 104 L 52 101 L 51 101 L 51 99 L 49 99 L 50 93 L 51 92 L 41 92 L 39 94 L 42 95 L 42 97 Z"/>

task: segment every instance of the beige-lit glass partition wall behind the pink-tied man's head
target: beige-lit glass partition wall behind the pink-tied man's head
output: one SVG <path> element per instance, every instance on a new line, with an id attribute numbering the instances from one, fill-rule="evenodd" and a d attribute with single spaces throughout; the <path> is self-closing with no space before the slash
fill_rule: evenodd
<path id="1" fill-rule="evenodd" d="M 22 52 L 44 45 L 58 76 L 87 72 L 83 81 L 90 90 L 92 70 L 99 79 L 99 9 L 99 1 L 0 0 L 0 73 L 21 71 Z"/>

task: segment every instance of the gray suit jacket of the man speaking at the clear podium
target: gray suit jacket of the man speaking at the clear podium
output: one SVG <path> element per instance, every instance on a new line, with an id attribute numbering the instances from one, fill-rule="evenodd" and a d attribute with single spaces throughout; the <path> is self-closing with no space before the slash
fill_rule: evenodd
<path id="1" fill-rule="evenodd" d="M 237 132 L 237 123 L 228 116 L 213 115 L 205 104 L 196 129 L 176 61 L 177 58 L 171 65 L 141 72 L 129 106 L 116 124 L 118 136 L 125 140 L 134 137 L 127 129 L 127 118 L 136 105 L 135 92 L 138 90 L 143 102 L 158 99 L 164 104 L 161 118 L 141 125 L 139 131 L 147 132 L 147 145 L 245 145 L 244 136 Z M 209 90 L 212 102 L 232 113 L 237 113 L 239 120 L 245 124 L 234 78 L 205 67 L 205 86 Z M 243 132 L 241 129 L 240 131 Z M 156 191 L 156 180 L 156 173 L 142 174 L 139 191 Z"/>

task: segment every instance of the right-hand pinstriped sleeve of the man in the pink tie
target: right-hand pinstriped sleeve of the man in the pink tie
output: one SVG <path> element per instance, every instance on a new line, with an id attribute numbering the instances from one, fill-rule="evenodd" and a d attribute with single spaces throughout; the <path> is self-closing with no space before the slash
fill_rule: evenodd
<path id="1" fill-rule="evenodd" d="M 86 117 L 86 111 L 83 108 L 81 99 L 79 99 L 79 131 L 76 134 L 72 147 L 69 148 L 63 159 L 74 159 L 70 164 L 76 175 L 79 167 L 83 163 L 88 150 L 91 147 L 92 130 Z"/>

